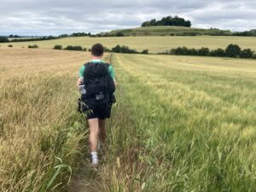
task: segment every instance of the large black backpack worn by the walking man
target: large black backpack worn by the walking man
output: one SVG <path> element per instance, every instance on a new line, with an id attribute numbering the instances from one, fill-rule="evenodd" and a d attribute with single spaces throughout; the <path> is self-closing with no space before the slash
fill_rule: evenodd
<path id="1" fill-rule="evenodd" d="M 109 64 L 89 62 L 84 66 L 86 94 L 82 95 L 81 101 L 90 109 L 107 108 L 115 90 L 113 79 L 108 73 Z"/>

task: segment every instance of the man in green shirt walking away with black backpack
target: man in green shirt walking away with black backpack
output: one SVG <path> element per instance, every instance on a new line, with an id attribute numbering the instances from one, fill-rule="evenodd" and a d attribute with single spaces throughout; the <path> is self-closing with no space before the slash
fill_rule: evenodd
<path id="1" fill-rule="evenodd" d="M 92 165 L 98 164 L 97 149 L 106 137 L 106 119 L 110 118 L 111 106 L 115 101 L 113 92 L 117 82 L 113 67 L 102 61 L 102 44 L 91 47 L 91 61 L 79 70 L 77 85 L 82 94 L 80 102 L 85 104 L 90 129 L 90 154 Z"/>

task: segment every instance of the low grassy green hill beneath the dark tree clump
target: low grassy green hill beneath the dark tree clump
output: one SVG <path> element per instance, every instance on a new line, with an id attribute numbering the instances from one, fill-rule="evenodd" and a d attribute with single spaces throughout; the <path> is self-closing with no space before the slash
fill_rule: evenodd
<path id="1" fill-rule="evenodd" d="M 131 29 L 102 32 L 98 36 L 196 36 L 196 35 L 232 35 L 230 30 L 216 28 L 201 29 L 185 26 L 143 26 Z"/>

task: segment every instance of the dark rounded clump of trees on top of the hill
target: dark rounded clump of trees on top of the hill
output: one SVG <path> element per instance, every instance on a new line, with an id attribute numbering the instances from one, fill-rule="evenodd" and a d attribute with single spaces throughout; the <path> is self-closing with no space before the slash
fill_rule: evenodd
<path id="1" fill-rule="evenodd" d="M 178 16 L 167 16 L 163 17 L 161 20 L 147 20 L 143 22 L 142 26 L 191 26 L 190 20 L 184 20 Z"/>

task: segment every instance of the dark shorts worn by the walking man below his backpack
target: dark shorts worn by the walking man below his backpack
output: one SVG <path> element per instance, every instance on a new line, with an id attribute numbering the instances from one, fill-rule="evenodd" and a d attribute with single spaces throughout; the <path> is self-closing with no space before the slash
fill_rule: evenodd
<path id="1" fill-rule="evenodd" d="M 111 108 L 107 106 L 106 108 L 90 108 L 86 112 L 87 119 L 107 119 L 110 118 Z"/>

